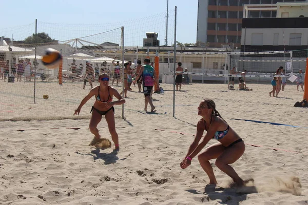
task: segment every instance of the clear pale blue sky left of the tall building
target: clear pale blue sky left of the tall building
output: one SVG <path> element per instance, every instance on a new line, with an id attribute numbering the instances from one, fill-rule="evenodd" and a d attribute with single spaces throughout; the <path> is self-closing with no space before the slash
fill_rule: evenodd
<path id="1" fill-rule="evenodd" d="M 126 45 L 140 46 L 142 38 L 146 37 L 146 31 L 158 32 L 160 44 L 164 45 L 166 2 L 166 0 L 21 0 L 16 2 L 18 5 L 12 5 L 10 1 L 2 1 L 2 8 L 7 9 L 1 11 L 3 20 L 0 35 L 11 38 L 13 34 L 15 40 L 23 40 L 35 32 L 34 22 L 37 19 L 37 32 L 46 32 L 57 40 L 80 38 L 124 26 Z M 177 6 L 177 40 L 182 43 L 195 43 L 198 0 L 169 0 L 168 45 L 174 42 L 175 6 Z M 105 41 L 116 41 L 112 39 L 115 35 L 118 33 L 85 38 L 85 40 L 99 42 L 105 37 Z"/>

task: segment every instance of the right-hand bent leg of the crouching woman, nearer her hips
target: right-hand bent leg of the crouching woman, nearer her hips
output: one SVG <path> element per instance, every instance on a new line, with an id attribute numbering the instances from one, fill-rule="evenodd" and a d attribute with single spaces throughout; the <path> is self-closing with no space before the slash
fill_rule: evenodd
<path id="1" fill-rule="evenodd" d="M 232 164 L 238 160 L 244 154 L 244 151 L 244 142 L 239 142 L 232 147 L 227 148 L 215 161 L 215 165 L 231 177 L 233 181 L 236 182 L 237 186 L 243 186 L 244 181 L 241 177 L 239 177 L 235 170 L 229 166 L 229 164 Z"/>

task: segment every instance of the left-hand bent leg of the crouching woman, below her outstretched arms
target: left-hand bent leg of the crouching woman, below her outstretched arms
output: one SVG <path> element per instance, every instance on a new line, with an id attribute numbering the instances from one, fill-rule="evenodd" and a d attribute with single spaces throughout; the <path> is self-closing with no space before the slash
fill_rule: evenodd
<path id="1" fill-rule="evenodd" d="M 217 181 L 213 172 L 213 168 L 211 167 L 208 160 L 216 159 L 225 151 L 225 149 L 226 148 L 223 147 L 220 142 L 218 142 L 206 148 L 205 151 L 198 156 L 200 165 L 209 178 L 209 184 L 216 184 Z"/>

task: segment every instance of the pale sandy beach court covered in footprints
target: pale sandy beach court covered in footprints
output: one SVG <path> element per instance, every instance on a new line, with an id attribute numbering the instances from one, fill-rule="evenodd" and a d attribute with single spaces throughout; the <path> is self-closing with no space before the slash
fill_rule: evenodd
<path id="1" fill-rule="evenodd" d="M 228 90 L 223 84 L 192 84 L 176 92 L 162 84 L 153 94 L 156 114 L 143 111 L 144 96 L 132 86 L 125 104 L 115 108 L 120 151 L 88 146 L 89 118 L 94 98 L 73 116 L 90 87 L 81 84 L 0 81 L 0 204 L 306 204 L 308 201 L 308 109 L 293 107 L 303 92 L 287 85 L 279 97 L 269 97 L 271 85 L 249 84 L 253 91 Z M 116 87 L 119 91 L 122 87 Z M 43 99 L 43 95 L 49 98 Z M 213 99 L 216 109 L 242 137 L 243 156 L 232 166 L 243 179 L 241 189 L 215 166 L 218 185 L 197 157 L 182 170 L 201 118 L 197 107 Z M 237 120 L 242 119 L 242 120 Z M 255 120 L 268 123 L 257 123 Z M 26 121 L 25 121 L 26 120 Z M 289 126 L 285 126 L 289 125 Z M 291 125 L 291 126 L 290 126 Z M 295 126 L 295 127 L 292 127 Z M 103 118 L 98 126 L 111 140 Z M 208 145 L 216 140 L 210 140 Z M 207 145 L 207 146 L 208 146 Z M 207 147 L 206 146 L 206 147 Z"/>

